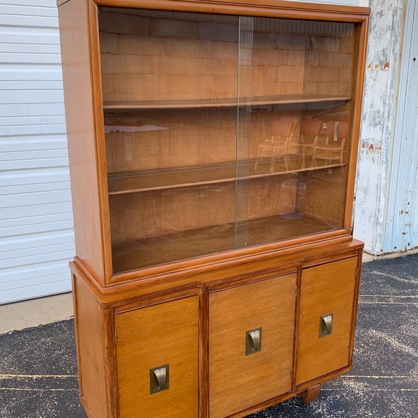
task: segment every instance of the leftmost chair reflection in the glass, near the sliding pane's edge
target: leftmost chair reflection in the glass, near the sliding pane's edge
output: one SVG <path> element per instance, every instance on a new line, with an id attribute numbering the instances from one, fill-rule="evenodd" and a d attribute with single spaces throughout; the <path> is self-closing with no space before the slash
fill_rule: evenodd
<path id="1" fill-rule="evenodd" d="M 296 121 L 294 118 L 274 119 L 272 122 L 272 137 L 258 145 L 255 169 L 263 158 L 270 159 L 270 173 L 274 172 L 277 157 L 282 157 L 284 167 L 288 170 L 289 145 L 294 137 Z"/>

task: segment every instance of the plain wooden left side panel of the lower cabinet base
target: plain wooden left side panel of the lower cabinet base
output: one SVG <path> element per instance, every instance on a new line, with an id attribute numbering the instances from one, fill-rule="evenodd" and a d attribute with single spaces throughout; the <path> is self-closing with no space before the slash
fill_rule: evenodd
<path id="1" fill-rule="evenodd" d="M 80 398 L 88 417 L 107 417 L 102 310 L 88 286 L 74 276 Z"/>

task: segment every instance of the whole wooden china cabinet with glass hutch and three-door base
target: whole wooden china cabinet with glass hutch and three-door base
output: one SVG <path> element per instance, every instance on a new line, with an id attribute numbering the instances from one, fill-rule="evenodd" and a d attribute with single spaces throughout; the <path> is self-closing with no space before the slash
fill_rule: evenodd
<path id="1" fill-rule="evenodd" d="M 59 0 L 88 417 L 243 417 L 352 366 L 369 8 Z"/>

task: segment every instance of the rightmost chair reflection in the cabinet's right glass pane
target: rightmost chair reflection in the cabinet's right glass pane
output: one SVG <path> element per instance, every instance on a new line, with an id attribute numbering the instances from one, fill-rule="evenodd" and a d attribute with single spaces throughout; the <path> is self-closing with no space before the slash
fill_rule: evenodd
<path id="1" fill-rule="evenodd" d="M 341 166 L 343 170 L 343 153 L 346 138 L 348 138 L 348 122 L 330 121 L 323 124 L 322 132 L 315 138 L 314 154 L 311 167 L 317 167 L 318 160 L 323 160 L 328 166 Z M 330 170 L 332 167 L 330 167 Z"/>

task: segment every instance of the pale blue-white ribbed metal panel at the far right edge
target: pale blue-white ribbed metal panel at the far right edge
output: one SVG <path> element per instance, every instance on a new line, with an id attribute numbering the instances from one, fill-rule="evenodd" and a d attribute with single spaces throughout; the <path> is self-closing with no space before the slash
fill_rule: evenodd
<path id="1" fill-rule="evenodd" d="M 418 247 L 418 0 L 408 0 L 383 251 Z"/>

